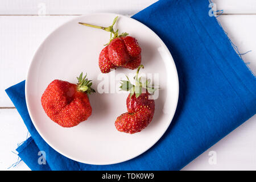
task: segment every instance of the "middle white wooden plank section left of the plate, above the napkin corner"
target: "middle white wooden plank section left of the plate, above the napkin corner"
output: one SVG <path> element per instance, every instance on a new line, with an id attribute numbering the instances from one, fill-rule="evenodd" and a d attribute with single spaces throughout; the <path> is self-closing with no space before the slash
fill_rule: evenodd
<path id="1" fill-rule="evenodd" d="M 0 16 L 0 107 L 12 107 L 5 89 L 23 81 L 36 49 L 75 16 Z"/>

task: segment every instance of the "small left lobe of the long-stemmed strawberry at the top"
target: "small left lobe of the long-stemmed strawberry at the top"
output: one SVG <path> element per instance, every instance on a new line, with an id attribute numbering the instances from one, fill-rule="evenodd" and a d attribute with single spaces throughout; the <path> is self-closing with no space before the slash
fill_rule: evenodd
<path id="1" fill-rule="evenodd" d="M 109 60 L 108 46 L 102 49 L 100 56 L 98 57 L 98 66 L 102 73 L 109 73 L 111 69 L 116 68 L 116 66 Z"/>

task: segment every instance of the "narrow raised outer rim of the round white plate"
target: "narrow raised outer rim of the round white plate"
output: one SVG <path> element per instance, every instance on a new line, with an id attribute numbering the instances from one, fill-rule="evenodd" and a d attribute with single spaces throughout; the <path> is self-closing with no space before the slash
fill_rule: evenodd
<path id="1" fill-rule="evenodd" d="M 159 42 L 162 44 L 162 46 L 164 47 L 164 49 L 167 50 L 168 56 L 169 56 L 170 59 L 172 60 L 172 61 L 171 61 L 171 62 L 172 62 L 172 66 L 174 67 L 174 71 L 175 71 L 175 74 L 174 74 L 174 75 L 175 75 L 175 78 L 174 78 L 174 79 L 176 80 L 176 84 L 177 84 L 177 88 L 176 88 L 176 93 L 177 93 L 177 94 L 176 94 L 176 96 L 175 96 L 176 100 L 175 100 L 175 103 L 174 103 L 175 109 L 173 110 L 173 112 L 172 112 L 171 114 L 169 114 L 169 115 L 170 115 L 170 121 L 168 121 L 168 127 L 166 127 L 166 130 L 164 130 L 164 131 L 162 132 L 162 134 L 159 135 L 159 138 L 157 138 L 156 141 L 155 141 L 152 145 L 150 145 L 149 147 L 146 147 L 146 149 L 142 150 L 142 152 L 139 152 L 139 154 L 137 154 L 137 155 L 135 155 L 135 156 L 131 156 L 131 157 L 128 158 L 128 159 L 120 160 L 120 161 L 118 161 L 118 162 L 113 162 L 113 163 L 90 163 L 90 162 L 86 162 L 85 160 L 80 160 L 80 159 L 77 159 L 77 158 L 75 158 L 75 157 L 73 157 L 73 156 L 69 156 L 69 155 L 67 155 L 67 154 L 63 154 L 62 151 L 60 151 L 59 149 L 57 149 L 57 147 L 54 147 L 54 145 L 51 144 L 51 142 L 49 142 L 48 140 L 46 140 L 46 139 L 43 137 L 44 135 L 40 132 L 39 128 L 36 126 L 36 124 L 35 124 L 35 122 L 34 122 L 35 119 L 32 117 L 32 114 L 31 114 L 31 113 L 32 113 L 32 112 L 31 112 L 31 107 L 30 107 L 30 104 L 28 103 L 28 100 L 27 100 L 27 98 L 28 98 L 28 84 L 27 84 L 28 81 L 27 81 L 27 80 L 29 80 L 28 77 L 29 77 L 30 72 L 31 72 L 31 69 L 32 69 L 31 67 L 32 67 L 32 64 L 35 62 L 35 57 L 36 57 L 36 55 L 38 55 L 39 49 L 41 49 L 41 47 L 43 46 L 43 44 L 44 44 L 45 42 L 47 42 L 47 40 L 49 39 L 49 37 L 51 37 L 51 35 L 52 35 L 54 32 L 56 32 L 57 30 L 59 30 L 61 27 L 65 26 L 65 24 L 71 23 L 71 22 L 73 22 L 73 21 L 76 20 L 76 19 L 79 19 L 79 18 L 84 17 L 84 16 L 88 16 L 88 15 L 92 15 L 92 16 L 93 16 L 93 15 L 113 15 L 113 16 L 114 16 L 114 15 L 115 15 L 115 16 L 118 16 L 118 17 L 129 18 L 129 19 L 132 19 L 133 21 L 135 21 L 135 22 L 137 22 L 137 23 L 140 23 L 142 26 L 146 27 L 149 31 L 151 31 L 151 32 L 155 35 L 155 37 L 159 40 Z M 46 36 L 46 38 L 44 38 L 44 40 L 43 40 L 42 43 L 40 43 L 40 45 L 39 45 L 38 48 L 36 49 L 36 52 L 35 52 L 34 55 L 32 56 L 31 62 L 30 62 L 30 64 L 29 64 L 29 66 L 28 66 L 27 75 L 26 75 L 26 81 L 25 81 L 25 98 L 26 98 L 26 105 L 27 105 L 28 114 L 30 115 L 32 124 L 34 125 L 36 131 L 38 131 L 40 137 L 42 137 L 43 140 L 44 140 L 50 147 L 53 148 L 53 150 L 59 152 L 59 154 L 65 156 L 65 157 L 67 157 L 67 158 L 69 158 L 69 159 L 75 160 L 76 162 L 80 162 L 80 163 L 92 164 L 92 165 L 98 165 L 98 166 L 101 166 L 101 165 L 110 165 L 110 164 L 118 164 L 118 163 L 126 162 L 126 161 L 128 161 L 128 160 L 137 158 L 137 156 L 142 155 L 144 152 L 146 152 L 146 151 L 149 150 L 151 147 L 153 147 L 156 143 L 158 143 L 158 142 L 159 142 L 159 139 L 163 137 L 164 133 L 166 133 L 167 129 L 170 127 L 170 124 L 171 124 L 171 122 L 172 122 L 172 119 L 174 118 L 174 115 L 175 115 L 176 109 L 177 109 L 177 103 L 178 103 L 178 100 L 179 100 L 179 76 L 178 76 L 178 74 L 177 74 L 177 68 L 176 68 L 176 65 L 175 65 L 175 61 L 174 61 L 174 59 L 173 59 L 173 57 L 172 57 L 172 55 L 171 55 L 171 52 L 169 51 L 168 47 L 167 47 L 166 44 L 163 42 L 163 40 L 160 39 L 160 37 L 159 37 L 154 31 L 152 31 L 151 28 L 147 27 L 145 24 L 139 22 L 139 21 L 136 20 L 136 19 L 133 19 L 133 18 L 131 18 L 131 17 L 128 17 L 128 16 L 125 16 L 125 15 L 121 15 L 121 14 L 115 14 L 115 13 L 90 13 L 90 14 L 84 14 L 84 15 L 76 16 L 75 18 L 72 18 L 72 19 L 68 20 L 67 22 L 64 22 L 64 23 L 60 24 L 60 25 L 57 26 L 53 31 L 51 31 L 51 32 Z"/>

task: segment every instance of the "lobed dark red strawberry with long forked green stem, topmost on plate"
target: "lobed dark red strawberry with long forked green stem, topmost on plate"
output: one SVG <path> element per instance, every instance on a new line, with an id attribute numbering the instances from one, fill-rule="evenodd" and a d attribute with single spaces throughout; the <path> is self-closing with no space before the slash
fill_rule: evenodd
<path id="1" fill-rule="evenodd" d="M 115 17 L 113 23 L 109 27 L 101 27 L 101 26 L 94 26 L 92 24 L 88 23 L 80 23 L 84 26 L 94 27 L 94 28 L 100 28 L 102 30 L 110 32 L 110 41 L 108 44 L 108 53 L 106 53 L 105 48 L 102 50 L 104 53 L 100 53 L 99 57 L 99 66 L 102 73 L 109 73 L 110 67 L 114 68 L 113 65 L 116 67 L 124 67 L 129 69 L 136 69 L 141 64 L 141 47 L 139 47 L 137 39 L 127 36 L 128 34 L 122 33 L 118 35 L 118 30 L 114 31 L 113 26 L 115 22 L 117 22 L 117 17 Z M 104 55 L 104 58 L 102 58 L 102 55 Z M 108 55 L 108 56 L 106 56 Z M 102 64 L 102 60 L 110 60 L 110 63 Z M 108 61 L 107 61 L 108 62 Z M 106 65 L 105 65 L 106 64 Z M 102 66 L 104 65 L 104 66 Z M 106 68 L 108 67 L 108 68 Z"/>

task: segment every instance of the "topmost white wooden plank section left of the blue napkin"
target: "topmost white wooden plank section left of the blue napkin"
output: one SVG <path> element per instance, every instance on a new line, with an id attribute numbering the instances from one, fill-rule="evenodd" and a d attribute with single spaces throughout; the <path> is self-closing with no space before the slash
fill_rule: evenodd
<path id="1" fill-rule="evenodd" d="M 126 0 L 2 0 L 2 15 L 81 15 L 87 13 L 118 13 L 133 15 L 157 0 L 126 1 Z"/>

